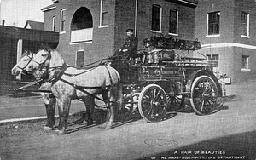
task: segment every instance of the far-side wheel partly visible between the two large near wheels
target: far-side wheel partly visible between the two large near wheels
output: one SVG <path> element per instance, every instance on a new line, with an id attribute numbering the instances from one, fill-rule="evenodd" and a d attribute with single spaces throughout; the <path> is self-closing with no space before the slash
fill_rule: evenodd
<path id="1" fill-rule="evenodd" d="M 168 89 L 166 89 L 166 95 L 168 111 L 177 111 L 183 106 L 185 97 L 182 94 L 178 94 L 177 86 L 174 82 L 170 81 Z"/>

